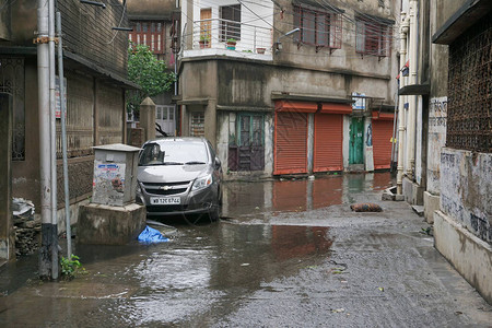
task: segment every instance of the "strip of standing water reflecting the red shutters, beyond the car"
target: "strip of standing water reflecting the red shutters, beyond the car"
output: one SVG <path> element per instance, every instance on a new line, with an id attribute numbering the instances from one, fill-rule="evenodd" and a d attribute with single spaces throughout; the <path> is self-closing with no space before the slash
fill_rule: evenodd
<path id="1" fill-rule="evenodd" d="M 225 184 L 223 214 L 229 218 L 266 219 L 278 212 L 303 212 L 352 203 L 354 195 L 383 190 L 390 184 L 390 173 Z"/>

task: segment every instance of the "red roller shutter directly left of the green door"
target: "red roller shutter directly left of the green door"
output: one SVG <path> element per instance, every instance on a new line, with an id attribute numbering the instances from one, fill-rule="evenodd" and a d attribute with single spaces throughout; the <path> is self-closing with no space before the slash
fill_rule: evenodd
<path id="1" fill-rule="evenodd" d="M 314 172 L 343 169 L 343 115 L 316 114 Z"/>

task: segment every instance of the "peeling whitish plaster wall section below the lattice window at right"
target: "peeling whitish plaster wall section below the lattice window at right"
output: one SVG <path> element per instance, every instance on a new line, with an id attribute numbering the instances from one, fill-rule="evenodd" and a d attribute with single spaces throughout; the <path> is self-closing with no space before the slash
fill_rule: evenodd
<path id="1" fill-rule="evenodd" d="M 492 154 L 444 148 L 441 210 L 480 239 L 492 243 Z"/>

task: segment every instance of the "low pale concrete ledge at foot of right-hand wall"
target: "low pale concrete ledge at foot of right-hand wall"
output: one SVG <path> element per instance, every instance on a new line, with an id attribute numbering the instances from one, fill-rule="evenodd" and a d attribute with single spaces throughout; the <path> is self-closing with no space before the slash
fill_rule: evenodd
<path id="1" fill-rule="evenodd" d="M 492 246 L 442 211 L 434 212 L 435 248 L 492 304 Z"/>

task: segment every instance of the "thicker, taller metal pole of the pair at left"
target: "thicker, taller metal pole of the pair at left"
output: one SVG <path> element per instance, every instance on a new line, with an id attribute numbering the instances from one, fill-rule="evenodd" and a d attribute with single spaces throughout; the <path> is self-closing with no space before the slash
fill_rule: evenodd
<path id="1" fill-rule="evenodd" d="M 58 220 L 57 220 L 57 148 L 56 148 L 56 75 L 55 75 L 55 0 L 48 1 L 48 45 L 49 45 L 49 117 L 50 117 L 50 154 L 51 154 L 51 279 L 58 279 Z"/>

